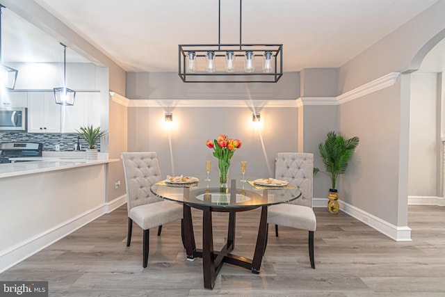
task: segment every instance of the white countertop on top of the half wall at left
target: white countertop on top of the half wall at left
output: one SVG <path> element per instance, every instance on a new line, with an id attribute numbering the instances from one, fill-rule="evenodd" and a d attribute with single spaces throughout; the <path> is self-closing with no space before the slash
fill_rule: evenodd
<path id="1" fill-rule="evenodd" d="M 98 154 L 97 159 L 87 160 L 84 156 L 40 156 L 28 158 L 14 158 L 29 162 L 0 164 L 0 178 L 15 177 L 18 175 L 29 175 L 39 172 L 64 170 L 83 166 L 117 162 L 119 159 L 108 159 L 108 154 Z M 30 161 L 32 160 L 32 161 Z"/>

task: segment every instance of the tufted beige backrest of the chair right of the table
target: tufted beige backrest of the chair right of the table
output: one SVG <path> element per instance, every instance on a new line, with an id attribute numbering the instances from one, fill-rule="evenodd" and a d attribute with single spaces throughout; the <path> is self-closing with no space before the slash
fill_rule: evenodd
<path id="1" fill-rule="evenodd" d="M 275 158 L 275 178 L 300 188 L 301 197 L 289 203 L 312 207 L 314 154 L 279 152 Z"/>

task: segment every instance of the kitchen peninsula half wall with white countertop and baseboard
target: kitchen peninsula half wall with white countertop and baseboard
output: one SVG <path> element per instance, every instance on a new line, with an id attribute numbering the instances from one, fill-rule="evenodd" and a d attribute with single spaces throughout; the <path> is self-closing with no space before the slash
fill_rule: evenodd
<path id="1" fill-rule="evenodd" d="M 26 162 L 0 164 L 0 225 L 8 226 L 0 228 L 0 273 L 125 202 L 108 200 L 108 164 L 119 159 L 106 153 L 86 160 L 85 152 L 43 152 L 15 161 Z"/>

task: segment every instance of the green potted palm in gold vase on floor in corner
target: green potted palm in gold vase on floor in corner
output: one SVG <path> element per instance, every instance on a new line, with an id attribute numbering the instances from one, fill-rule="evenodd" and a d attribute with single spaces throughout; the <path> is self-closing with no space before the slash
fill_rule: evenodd
<path id="1" fill-rule="evenodd" d="M 325 164 L 325 173 L 330 176 L 331 186 L 329 189 L 329 202 L 327 202 L 327 210 L 331 214 L 339 212 L 339 199 L 337 193 L 337 178 L 343 174 L 348 168 L 348 161 L 353 156 L 355 148 L 359 145 L 357 136 L 345 139 L 343 136 L 337 135 L 334 131 L 327 132 L 327 138 L 323 143 L 318 145 L 321 159 Z M 314 168 L 314 174 L 320 171 Z"/>

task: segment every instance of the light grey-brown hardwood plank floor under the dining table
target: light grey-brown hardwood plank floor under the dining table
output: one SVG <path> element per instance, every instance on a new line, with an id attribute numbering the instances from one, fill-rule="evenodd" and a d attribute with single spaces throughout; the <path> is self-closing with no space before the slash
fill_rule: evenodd
<path id="1" fill-rule="evenodd" d="M 307 232 L 280 227 L 254 275 L 225 264 L 213 290 L 204 289 L 202 259 L 188 262 L 179 221 L 150 232 L 142 268 L 142 231 L 133 227 L 127 248 L 122 206 L 0 274 L 0 280 L 47 280 L 49 296 L 445 296 L 445 207 L 409 207 L 412 241 L 396 242 L 340 212 L 316 208 L 316 269 L 310 268 Z M 238 213 L 234 253 L 252 257 L 259 211 Z M 193 210 L 197 246 L 201 213 Z M 220 248 L 227 214 L 214 214 Z"/>

